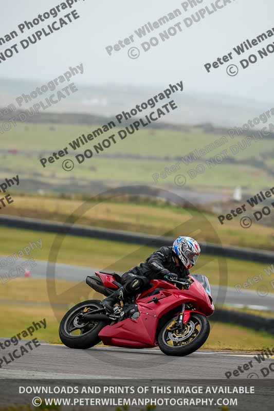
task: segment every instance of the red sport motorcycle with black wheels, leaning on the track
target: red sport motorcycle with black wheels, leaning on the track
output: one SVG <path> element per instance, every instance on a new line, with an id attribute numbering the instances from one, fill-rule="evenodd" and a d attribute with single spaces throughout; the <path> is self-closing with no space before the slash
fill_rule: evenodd
<path id="1" fill-rule="evenodd" d="M 108 296 L 121 287 L 116 273 L 96 272 L 86 283 Z M 107 314 L 99 300 L 72 307 L 63 317 L 59 335 L 69 348 L 86 349 L 100 341 L 124 348 L 157 347 L 169 356 L 187 356 L 207 340 L 207 317 L 214 312 L 210 285 L 204 275 L 187 281 L 154 279 L 150 288 L 128 297 Z"/>

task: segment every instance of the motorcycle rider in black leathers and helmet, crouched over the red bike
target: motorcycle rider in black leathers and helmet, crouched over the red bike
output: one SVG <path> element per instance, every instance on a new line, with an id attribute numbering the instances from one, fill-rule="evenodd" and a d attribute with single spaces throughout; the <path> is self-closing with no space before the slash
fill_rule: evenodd
<path id="1" fill-rule="evenodd" d="M 122 287 L 106 297 L 101 304 L 112 313 L 118 300 L 149 288 L 154 278 L 178 280 L 187 279 L 189 269 L 196 264 L 200 254 L 198 242 L 191 237 L 178 237 L 172 247 L 161 247 L 144 263 L 125 272 L 121 277 Z"/>

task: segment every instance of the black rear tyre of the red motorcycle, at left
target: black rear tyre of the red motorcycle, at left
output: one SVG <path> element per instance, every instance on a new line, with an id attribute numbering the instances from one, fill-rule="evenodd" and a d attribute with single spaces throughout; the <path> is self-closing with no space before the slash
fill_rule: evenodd
<path id="1" fill-rule="evenodd" d="M 101 329 L 107 325 L 104 321 L 83 323 L 81 328 L 79 328 L 81 330 L 81 335 L 71 335 L 71 332 L 69 332 L 69 328 L 73 326 L 78 314 L 83 312 L 86 307 L 93 310 L 102 308 L 99 300 L 83 301 L 82 303 L 70 308 L 61 320 L 59 326 L 59 337 L 62 343 L 69 348 L 87 349 L 93 347 L 101 341 L 98 334 Z"/>

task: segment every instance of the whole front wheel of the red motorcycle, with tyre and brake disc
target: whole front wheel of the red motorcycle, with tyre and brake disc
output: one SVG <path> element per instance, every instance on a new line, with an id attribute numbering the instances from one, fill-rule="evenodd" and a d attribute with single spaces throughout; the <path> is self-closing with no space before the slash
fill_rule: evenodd
<path id="1" fill-rule="evenodd" d="M 207 317 L 193 313 L 183 331 L 174 327 L 168 330 L 175 320 L 176 316 L 169 319 L 159 332 L 158 344 L 163 353 L 167 356 L 188 356 L 205 344 L 210 332 Z"/>

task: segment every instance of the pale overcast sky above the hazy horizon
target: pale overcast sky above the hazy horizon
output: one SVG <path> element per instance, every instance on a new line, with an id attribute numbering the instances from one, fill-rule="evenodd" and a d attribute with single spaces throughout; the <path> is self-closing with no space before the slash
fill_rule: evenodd
<path id="1" fill-rule="evenodd" d="M 182 20 L 200 8 L 210 5 L 213 0 L 204 2 L 195 9 L 184 12 L 181 1 L 177 0 L 80 0 L 75 9 L 80 18 L 54 32 L 26 50 L 20 47 L 20 53 L 0 64 L 0 77 L 10 79 L 50 80 L 59 76 L 68 66 L 84 65 L 84 74 L 77 79 L 78 83 L 88 84 L 147 84 L 162 86 L 184 81 L 185 90 L 195 92 L 224 93 L 261 101 L 271 101 L 274 80 L 274 53 L 246 70 L 240 69 L 238 76 L 229 77 L 226 66 L 213 70 L 210 74 L 204 64 L 213 62 L 230 52 L 233 47 L 245 39 L 253 39 L 258 34 L 274 27 L 273 0 L 235 0 L 231 4 L 207 15 L 203 21 L 186 28 L 149 52 L 144 53 L 140 47 L 142 40 L 134 35 L 135 43 L 141 50 L 136 60 L 127 55 L 129 47 L 115 52 L 111 57 L 105 47 L 134 33 L 138 27 L 148 21 L 154 22 L 162 15 L 179 8 L 182 15 L 173 22 L 163 26 L 158 32 L 168 29 L 173 23 Z M 220 0 L 222 3 L 224 0 Z M 215 2 L 215 0 L 214 0 Z M 58 0 L 24 0 L 24 2 L 5 2 L 2 9 L 0 37 L 17 29 L 25 20 L 33 20 L 39 13 L 49 11 L 51 7 L 62 3 Z M 73 10 L 72 8 L 71 10 Z M 71 11 L 70 10 L 70 11 Z M 66 14 L 63 10 L 58 17 Z M 35 30 L 47 26 L 51 18 L 35 29 L 20 34 L 18 38 L 0 47 L 19 43 Z M 19 30 L 17 29 L 19 32 Z M 143 41 L 148 41 L 151 34 Z M 274 36 L 256 49 L 274 41 Z M 250 51 L 253 53 L 253 50 Z M 247 52 L 244 57 L 248 56 Z M 232 63 L 239 65 L 239 57 Z"/>

